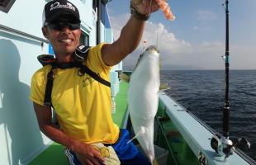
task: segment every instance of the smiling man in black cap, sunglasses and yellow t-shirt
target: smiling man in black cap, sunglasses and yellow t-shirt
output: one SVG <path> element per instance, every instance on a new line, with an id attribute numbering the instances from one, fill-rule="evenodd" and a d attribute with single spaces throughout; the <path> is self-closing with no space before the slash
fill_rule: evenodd
<path id="1" fill-rule="evenodd" d="M 149 12 L 159 6 L 154 2 L 131 0 L 131 16 L 118 40 L 92 47 L 83 65 L 108 81 L 111 66 L 118 64 L 139 45 Z M 151 9 L 150 9 L 151 8 Z M 73 52 L 81 35 L 77 7 L 65 0 L 45 5 L 42 32 L 55 52 L 55 62 L 76 61 Z M 149 164 L 129 140 L 127 130 L 120 130 L 111 119 L 110 88 L 96 81 L 79 68 L 40 68 L 31 80 L 31 101 L 34 103 L 40 130 L 55 142 L 64 145 L 70 164 L 104 164 L 105 158 L 92 144 L 111 145 L 121 164 Z M 47 77 L 53 73 L 51 106 L 59 127 L 51 120 L 51 106 L 44 104 Z"/>

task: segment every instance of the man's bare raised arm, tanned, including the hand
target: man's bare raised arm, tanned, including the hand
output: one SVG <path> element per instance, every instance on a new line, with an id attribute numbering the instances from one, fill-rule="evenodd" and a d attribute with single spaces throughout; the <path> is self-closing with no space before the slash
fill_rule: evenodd
<path id="1" fill-rule="evenodd" d="M 131 6 L 141 16 L 149 16 L 149 13 L 159 9 L 154 0 L 131 0 Z M 140 44 L 145 27 L 145 20 L 131 14 L 129 21 L 121 30 L 120 37 L 112 44 L 102 47 L 102 59 L 105 64 L 113 66 L 125 59 Z"/>

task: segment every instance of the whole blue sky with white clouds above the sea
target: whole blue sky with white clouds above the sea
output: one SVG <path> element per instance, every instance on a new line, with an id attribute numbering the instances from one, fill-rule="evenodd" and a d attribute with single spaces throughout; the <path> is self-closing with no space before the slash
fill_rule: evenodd
<path id="1" fill-rule="evenodd" d="M 225 0 L 167 0 L 176 16 L 154 12 L 142 40 L 159 45 L 163 67 L 224 69 Z M 130 0 L 107 3 L 114 38 L 130 17 Z M 230 0 L 230 68 L 256 69 L 256 0 Z M 158 37 L 157 37 L 158 34 Z M 157 42 L 158 38 L 158 42 Z M 143 45 L 124 60 L 135 65 Z"/>

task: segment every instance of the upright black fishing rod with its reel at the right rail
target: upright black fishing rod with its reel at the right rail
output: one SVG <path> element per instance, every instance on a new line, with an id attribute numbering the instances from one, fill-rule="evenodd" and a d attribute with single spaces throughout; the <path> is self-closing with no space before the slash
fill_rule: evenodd
<path id="1" fill-rule="evenodd" d="M 230 139 L 230 100 L 229 100 L 229 90 L 230 90 L 230 25 L 229 25 L 229 0 L 225 0 L 223 4 L 225 7 L 225 55 L 222 56 L 225 59 L 225 104 L 222 108 L 223 119 L 222 119 L 222 130 L 223 135 L 216 133 L 211 138 L 211 148 L 215 149 L 216 153 L 221 156 L 228 158 L 231 154 L 235 152 L 237 145 L 246 145 L 250 148 L 249 141 L 244 138 L 235 139 L 235 143 Z"/>

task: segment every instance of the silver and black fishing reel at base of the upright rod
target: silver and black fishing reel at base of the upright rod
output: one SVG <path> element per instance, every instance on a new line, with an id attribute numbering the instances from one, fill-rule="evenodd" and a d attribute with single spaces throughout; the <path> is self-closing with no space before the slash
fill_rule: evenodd
<path id="1" fill-rule="evenodd" d="M 234 141 L 234 143 L 233 143 Z M 211 138 L 211 148 L 220 156 L 225 156 L 224 160 L 235 152 L 235 148 L 250 148 L 249 141 L 244 138 L 236 138 L 234 140 L 227 139 L 220 133 L 216 133 Z"/>

